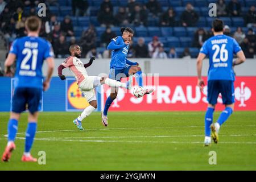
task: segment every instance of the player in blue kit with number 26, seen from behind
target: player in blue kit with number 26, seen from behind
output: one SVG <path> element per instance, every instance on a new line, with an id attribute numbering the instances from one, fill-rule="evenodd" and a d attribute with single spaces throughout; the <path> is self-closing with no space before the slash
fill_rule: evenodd
<path id="1" fill-rule="evenodd" d="M 204 145 L 209 146 L 211 142 L 210 132 L 214 143 L 218 142 L 220 126 L 229 118 L 234 110 L 234 71 L 235 65 L 245 62 L 245 55 L 237 41 L 223 34 L 224 22 L 215 19 L 212 23 L 213 34 L 204 42 L 197 57 L 197 85 L 203 89 L 204 81 L 201 77 L 203 59 L 209 56 L 207 100 L 208 108 L 205 114 L 205 140 Z M 237 59 L 233 61 L 233 54 Z M 225 109 L 220 114 L 217 122 L 213 123 L 213 112 L 217 104 L 218 95 L 221 93 Z"/>

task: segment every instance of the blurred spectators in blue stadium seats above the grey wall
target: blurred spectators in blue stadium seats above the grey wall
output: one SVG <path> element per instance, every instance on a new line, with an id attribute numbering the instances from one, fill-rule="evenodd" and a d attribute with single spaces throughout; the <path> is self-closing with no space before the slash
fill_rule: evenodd
<path id="1" fill-rule="evenodd" d="M 240 43 L 247 58 L 255 57 L 255 0 L 0 0 L 0 31 L 10 47 L 26 35 L 26 18 L 45 3 L 40 36 L 52 43 L 56 57 L 64 58 L 71 44 L 79 44 L 82 57 L 110 58 L 106 46 L 123 26 L 135 31 L 128 57 L 189 58 L 213 36 L 210 2 L 217 3 L 225 34 Z"/>

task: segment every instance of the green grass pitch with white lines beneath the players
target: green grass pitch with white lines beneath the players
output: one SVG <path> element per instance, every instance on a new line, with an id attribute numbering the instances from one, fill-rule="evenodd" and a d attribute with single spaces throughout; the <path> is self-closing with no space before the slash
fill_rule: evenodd
<path id="1" fill-rule="evenodd" d="M 27 114 L 19 122 L 16 150 L 0 170 L 255 170 L 256 112 L 235 111 L 221 127 L 218 144 L 203 147 L 204 112 L 110 112 L 109 126 L 101 113 L 83 122 L 80 113 L 40 113 L 31 154 L 46 152 L 46 165 L 22 163 Z M 214 113 L 214 121 L 220 112 Z M 6 146 L 9 113 L 0 113 L 0 150 Z M 210 151 L 217 164 L 210 165 Z"/>

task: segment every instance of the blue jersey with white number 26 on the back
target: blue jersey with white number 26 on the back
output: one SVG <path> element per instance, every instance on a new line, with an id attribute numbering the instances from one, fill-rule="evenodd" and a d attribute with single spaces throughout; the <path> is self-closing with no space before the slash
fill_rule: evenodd
<path id="1" fill-rule="evenodd" d="M 208 80 L 233 80 L 233 53 L 241 51 L 237 41 L 230 36 L 216 35 L 204 42 L 200 53 L 209 56 Z"/>

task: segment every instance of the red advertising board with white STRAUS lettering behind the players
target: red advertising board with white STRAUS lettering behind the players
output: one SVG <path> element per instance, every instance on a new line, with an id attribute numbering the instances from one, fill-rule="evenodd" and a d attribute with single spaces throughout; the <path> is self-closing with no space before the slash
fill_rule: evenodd
<path id="1" fill-rule="evenodd" d="M 207 83 L 206 77 L 204 80 Z M 200 92 L 197 77 L 147 77 L 144 82 L 151 82 L 144 87 L 155 88 L 153 94 L 137 98 L 121 88 L 110 111 L 204 111 L 207 107 L 207 86 Z M 256 110 L 256 77 L 236 77 L 234 89 L 235 110 Z M 104 104 L 109 93 L 110 88 L 105 86 Z M 220 95 L 216 110 L 223 108 Z"/>

